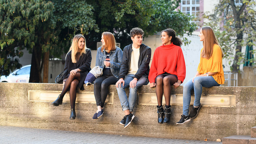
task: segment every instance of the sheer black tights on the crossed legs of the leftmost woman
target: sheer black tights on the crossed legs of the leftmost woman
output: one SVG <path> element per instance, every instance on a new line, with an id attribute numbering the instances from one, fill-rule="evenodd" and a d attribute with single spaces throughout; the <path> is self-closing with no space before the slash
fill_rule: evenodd
<path id="1" fill-rule="evenodd" d="M 64 88 L 60 94 L 61 97 L 64 97 L 66 92 L 69 90 L 71 109 L 75 108 L 75 99 L 77 98 L 77 86 L 78 86 L 79 80 L 80 80 L 79 72 L 75 73 L 74 76 L 69 75 L 69 77 L 67 78 L 64 84 Z"/>

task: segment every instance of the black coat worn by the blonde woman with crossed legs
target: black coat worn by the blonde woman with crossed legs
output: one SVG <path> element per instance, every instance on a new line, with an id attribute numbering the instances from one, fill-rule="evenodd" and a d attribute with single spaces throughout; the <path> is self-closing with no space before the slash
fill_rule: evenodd
<path id="1" fill-rule="evenodd" d="M 64 71 L 67 69 L 67 73 L 63 75 L 63 79 L 69 77 L 70 71 L 74 69 L 80 69 L 80 81 L 78 87 L 80 90 L 84 90 L 83 84 L 85 84 L 85 78 L 88 72 L 91 70 L 91 50 L 86 49 L 86 54 L 82 54 L 77 63 L 72 63 L 71 51 L 67 53 Z"/>

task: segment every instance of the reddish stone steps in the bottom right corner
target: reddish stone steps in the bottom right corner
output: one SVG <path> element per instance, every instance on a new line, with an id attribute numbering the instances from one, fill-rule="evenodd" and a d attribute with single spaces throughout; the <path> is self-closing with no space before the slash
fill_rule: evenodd
<path id="1" fill-rule="evenodd" d="M 255 144 L 256 126 L 251 127 L 251 135 L 233 135 L 222 139 L 222 144 Z"/>

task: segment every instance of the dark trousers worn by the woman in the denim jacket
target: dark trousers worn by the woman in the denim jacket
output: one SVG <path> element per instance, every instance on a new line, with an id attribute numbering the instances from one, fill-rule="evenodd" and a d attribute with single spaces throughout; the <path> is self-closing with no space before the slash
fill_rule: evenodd
<path id="1" fill-rule="evenodd" d="M 118 81 L 111 70 L 103 70 L 103 74 L 94 81 L 94 96 L 97 106 L 104 106 L 107 98 L 107 87 L 114 85 Z"/>

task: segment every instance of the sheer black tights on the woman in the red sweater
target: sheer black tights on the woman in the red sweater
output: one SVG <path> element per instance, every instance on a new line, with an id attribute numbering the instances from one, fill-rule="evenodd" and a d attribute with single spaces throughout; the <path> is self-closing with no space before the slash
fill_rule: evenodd
<path id="1" fill-rule="evenodd" d="M 167 106 L 170 105 L 171 100 L 171 85 L 177 82 L 177 78 L 173 75 L 158 75 L 155 78 L 156 88 L 155 92 L 157 94 L 157 103 L 162 105 L 163 93 L 165 94 L 165 103 Z"/>

